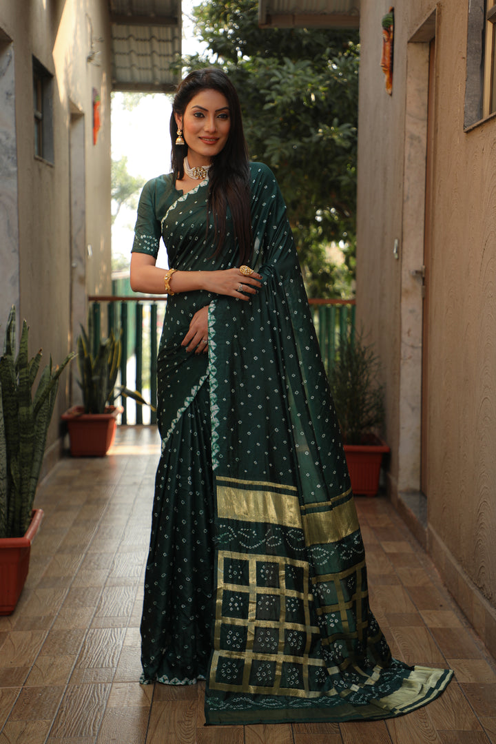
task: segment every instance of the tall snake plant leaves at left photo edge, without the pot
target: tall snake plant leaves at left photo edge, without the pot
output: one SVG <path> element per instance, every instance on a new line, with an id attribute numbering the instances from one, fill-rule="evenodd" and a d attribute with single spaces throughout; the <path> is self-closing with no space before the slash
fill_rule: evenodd
<path id="1" fill-rule="evenodd" d="M 55 368 L 50 358 L 33 398 L 42 350 L 29 359 L 26 321 L 16 358 L 15 350 L 16 309 L 12 307 L 0 357 L 0 537 L 20 537 L 29 527 L 59 376 L 74 356 L 68 354 Z"/>

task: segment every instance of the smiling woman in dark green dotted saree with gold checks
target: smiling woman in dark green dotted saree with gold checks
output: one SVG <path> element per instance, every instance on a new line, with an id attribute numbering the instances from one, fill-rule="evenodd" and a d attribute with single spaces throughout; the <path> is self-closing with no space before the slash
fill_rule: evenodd
<path id="1" fill-rule="evenodd" d="M 451 672 L 391 658 L 297 254 L 219 69 L 178 86 L 132 288 L 168 293 L 141 682 L 207 679 L 208 723 L 396 716 Z M 167 270 L 155 259 L 163 237 Z"/>

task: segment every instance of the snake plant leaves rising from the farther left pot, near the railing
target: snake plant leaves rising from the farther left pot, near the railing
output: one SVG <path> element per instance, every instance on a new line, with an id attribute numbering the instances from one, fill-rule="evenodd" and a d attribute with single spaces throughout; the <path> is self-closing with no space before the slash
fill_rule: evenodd
<path id="1" fill-rule="evenodd" d="M 77 366 L 80 379 L 77 384 L 83 392 L 83 405 L 86 414 L 103 414 L 116 395 L 132 398 L 140 405 L 150 405 L 138 391 L 115 385 L 122 357 L 122 329 L 116 337 L 111 331 L 107 339 L 100 341 L 97 353 L 94 348 L 93 326 L 88 323 L 88 332 L 81 326 L 77 339 Z M 152 410 L 155 410 L 150 405 Z"/>

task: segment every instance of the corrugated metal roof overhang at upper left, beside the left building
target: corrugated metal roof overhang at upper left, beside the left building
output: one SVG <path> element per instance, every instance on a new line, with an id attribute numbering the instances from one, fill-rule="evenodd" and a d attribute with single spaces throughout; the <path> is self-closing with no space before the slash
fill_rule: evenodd
<path id="1" fill-rule="evenodd" d="M 181 0 L 109 0 L 112 89 L 170 91 L 181 54 Z"/>

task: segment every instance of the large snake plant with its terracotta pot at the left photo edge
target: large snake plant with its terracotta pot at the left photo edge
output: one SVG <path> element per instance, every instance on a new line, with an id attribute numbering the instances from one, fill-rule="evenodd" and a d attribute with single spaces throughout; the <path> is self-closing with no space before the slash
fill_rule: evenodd
<path id="1" fill-rule="evenodd" d="M 42 467 L 48 426 L 54 411 L 59 376 L 74 354 L 59 367 L 52 361 L 31 390 L 42 351 L 28 358 L 28 324 L 23 321 L 16 350 L 16 309 L 12 307 L 0 357 L 0 615 L 16 607 L 28 576 L 30 546 L 42 520 L 33 500 Z"/>

